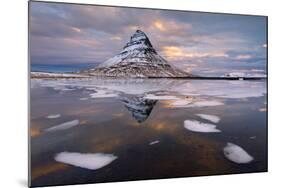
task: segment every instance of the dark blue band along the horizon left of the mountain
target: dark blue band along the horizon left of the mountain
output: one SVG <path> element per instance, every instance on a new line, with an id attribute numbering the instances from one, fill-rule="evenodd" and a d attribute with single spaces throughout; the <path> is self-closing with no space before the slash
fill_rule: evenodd
<path id="1" fill-rule="evenodd" d="M 96 64 L 80 63 L 80 64 L 31 64 L 33 72 L 54 72 L 54 73 L 70 73 L 94 68 Z"/>

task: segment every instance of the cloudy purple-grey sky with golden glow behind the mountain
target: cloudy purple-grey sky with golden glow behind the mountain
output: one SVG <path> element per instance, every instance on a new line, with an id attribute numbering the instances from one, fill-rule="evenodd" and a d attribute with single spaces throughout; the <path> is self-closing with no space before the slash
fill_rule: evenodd
<path id="1" fill-rule="evenodd" d="M 182 70 L 265 74 L 266 27 L 263 16 L 31 2 L 30 56 L 32 64 L 99 64 L 140 29 Z"/>

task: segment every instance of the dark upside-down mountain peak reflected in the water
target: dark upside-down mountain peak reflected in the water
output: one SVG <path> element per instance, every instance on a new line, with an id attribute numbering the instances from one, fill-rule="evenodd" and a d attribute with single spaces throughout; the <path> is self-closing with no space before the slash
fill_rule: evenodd
<path id="1" fill-rule="evenodd" d="M 134 119 L 139 123 L 144 122 L 150 115 L 157 100 L 145 99 L 143 97 L 121 97 L 122 103 L 131 112 Z"/>

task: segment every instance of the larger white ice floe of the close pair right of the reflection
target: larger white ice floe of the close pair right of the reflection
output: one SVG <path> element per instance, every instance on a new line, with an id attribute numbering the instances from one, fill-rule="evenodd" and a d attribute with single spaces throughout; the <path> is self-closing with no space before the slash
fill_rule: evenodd
<path id="1" fill-rule="evenodd" d="M 209 124 L 209 123 L 202 123 L 196 120 L 185 120 L 184 127 L 193 132 L 202 132 L 202 133 L 221 132 L 220 130 L 216 129 L 216 125 Z"/>

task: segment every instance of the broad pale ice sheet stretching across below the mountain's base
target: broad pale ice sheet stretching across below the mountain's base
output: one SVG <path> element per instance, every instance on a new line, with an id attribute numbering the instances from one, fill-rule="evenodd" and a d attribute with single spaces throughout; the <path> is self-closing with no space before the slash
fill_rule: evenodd
<path id="1" fill-rule="evenodd" d="M 224 99 L 261 97 L 266 94 L 265 81 L 238 80 L 32 79 L 31 88 L 36 87 L 50 87 L 63 92 L 85 89 L 92 91 L 89 95 L 91 98 L 138 95 L 151 100 L 171 100 L 174 107 L 218 106 L 224 104 Z M 216 99 L 206 100 L 205 97 Z"/>

